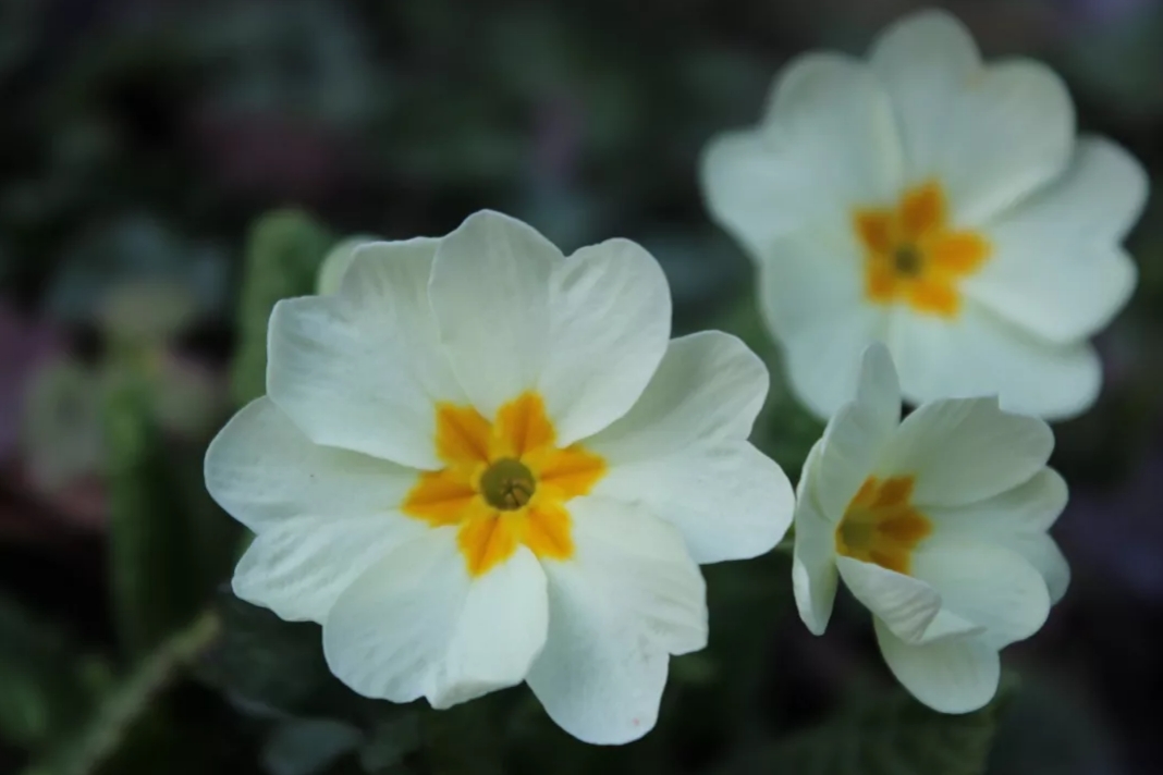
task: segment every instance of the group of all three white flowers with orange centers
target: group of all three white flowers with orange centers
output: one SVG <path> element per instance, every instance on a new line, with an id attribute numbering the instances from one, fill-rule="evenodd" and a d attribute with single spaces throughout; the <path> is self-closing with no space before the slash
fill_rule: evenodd
<path id="1" fill-rule="evenodd" d="M 1069 582 L 1043 418 L 1098 393 L 1087 337 L 1135 284 L 1119 244 L 1142 171 L 1076 139 L 1048 69 L 985 65 L 925 13 L 868 63 L 789 65 L 702 178 L 792 388 L 830 417 L 794 494 L 748 442 L 763 363 L 726 333 L 670 339 L 652 257 L 564 257 L 483 211 L 343 243 L 319 295 L 274 308 L 266 395 L 206 458 L 256 533 L 235 593 L 321 623 L 369 697 L 448 708 L 523 682 L 571 734 L 619 744 L 654 726 L 670 656 L 706 644 L 699 565 L 763 554 L 794 518 L 812 632 L 843 579 L 921 702 L 989 702 L 1000 650 Z M 904 419 L 902 395 L 921 404 Z"/>

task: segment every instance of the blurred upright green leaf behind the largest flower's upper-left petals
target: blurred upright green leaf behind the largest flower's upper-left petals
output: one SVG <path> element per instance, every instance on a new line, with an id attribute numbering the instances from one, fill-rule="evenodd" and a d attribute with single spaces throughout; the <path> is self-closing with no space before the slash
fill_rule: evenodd
<path id="1" fill-rule="evenodd" d="M 251 229 L 231 376 L 236 403 L 265 393 L 266 323 L 271 310 L 280 299 L 315 293 L 320 265 L 333 243 L 323 227 L 295 210 L 270 213 Z"/>

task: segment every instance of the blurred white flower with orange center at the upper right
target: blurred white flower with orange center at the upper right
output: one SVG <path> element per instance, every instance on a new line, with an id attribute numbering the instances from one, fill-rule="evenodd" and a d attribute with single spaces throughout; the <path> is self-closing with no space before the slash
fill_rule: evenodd
<path id="1" fill-rule="evenodd" d="M 1147 194 L 1113 143 L 1075 137 L 1062 81 L 983 64 L 943 12 L 898 22 L 868 62 L 808 53 L 761 125 L 708 146 L 715 220 L 756 259 L 799 397 L 827 417 L 884 342 L 905 396 L 998 394 L 1077 414 L 1101 372 L 1087 338 L 1130 295 L 1120 242 Z"/>

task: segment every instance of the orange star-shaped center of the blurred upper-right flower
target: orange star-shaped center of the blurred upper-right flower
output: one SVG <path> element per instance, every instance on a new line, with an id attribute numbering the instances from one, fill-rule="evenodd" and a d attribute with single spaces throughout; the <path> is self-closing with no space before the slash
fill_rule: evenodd
<path id="1" fill-rule="evenodd" d="M 905 302 L 928 315 L 957 315 L 957 284 L 985 264 L 990 243 L 976 231 L 955 230 L 947 210 L 941 186 L 928 182 L 905 192 L 896 208 L 854 214 L 869 300 Z"/>

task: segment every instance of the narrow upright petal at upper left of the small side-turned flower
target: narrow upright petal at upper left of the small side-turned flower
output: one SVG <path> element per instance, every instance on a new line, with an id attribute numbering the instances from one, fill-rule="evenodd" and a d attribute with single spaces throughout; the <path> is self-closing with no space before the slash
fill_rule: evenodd
<path id="1" fill-rule="evenodd" d="M 815 498 L 821 516 L 840 522 L 861 485 L 872 474 L 900 419 L 900 390 L 887 351 L 864 352 L 856 400 L 846 404 L 823 431 L 815 468 Z"/>

